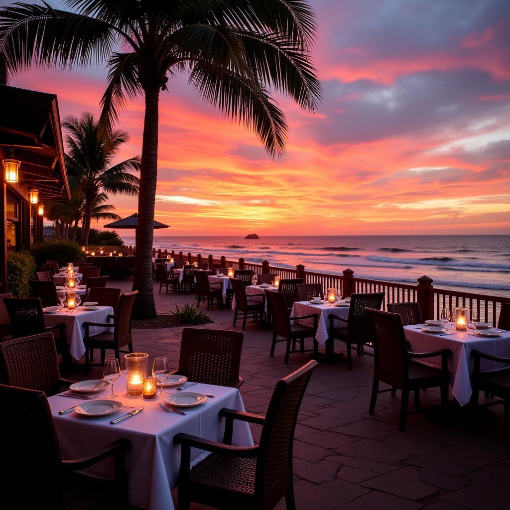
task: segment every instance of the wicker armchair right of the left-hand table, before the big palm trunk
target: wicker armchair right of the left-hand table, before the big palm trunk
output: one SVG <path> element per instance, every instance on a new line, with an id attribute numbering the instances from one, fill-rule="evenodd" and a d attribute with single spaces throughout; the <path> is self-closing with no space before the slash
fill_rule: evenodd
<path id="1" fill-rule="evenodd" d="M 122 294 L 119 299 L 119 305 L 117 308 L 117 313 L 115 315 L 109 315 L 108 320 L 114 319 L 113 323 L 100 323 L 100 322 L 84 322 L 83 326 L 85 327 L 85 370 L 89 372 L 90 363 L 90 354 L 93 355 L 94 349 L 100 349 L 101 351 L 101 364 L 103 366 L 105 364 L 105 351 L 106 349 L 112 349 L 115 351 L 115 358 L 119 360 L 120 363 L 120 353 L 121 352 L 133 352 L 133 339 L 131 336 L 131 320 L 133 316 L 133 306 L 135 304 L 135 299 L 138 294 L 138 291 L 135 290 L 133 292 L 128 292 L 127 294 Z M 109 331 L 104 331 L 103 333 L 98 333 L 97 335 L 90 335 L 90 327 L 91 326 L 102 326 L 102 327 L 113 327 L 113 333 Z M 129 350 L 122 351 L 120 347 L 127 345 Z"/>

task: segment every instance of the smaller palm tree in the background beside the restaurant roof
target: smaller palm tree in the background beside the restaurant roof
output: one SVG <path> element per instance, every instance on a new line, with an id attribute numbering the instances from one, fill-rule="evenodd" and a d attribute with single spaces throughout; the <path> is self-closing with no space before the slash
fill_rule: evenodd
<path id="1" fill-rule="evenodd" d="M 129 137 L 119 130 L 106 132 L 91 113 L 68 117 L 62 124 L 66 130 L 68 172 L 80 183 L 84 198 L 82 244 L 89 240 L 90 220 L 94 201 L 102 192 L 124 195 L 138 194 L 140 168 L 138 156 L 112 165 L 121 145 Z M 79 199 L 79 196 L 78 196 Z M 96 206 L 99 206 L 96 203 Z M 76 216 L 74 217 L 76 218 Z"/>

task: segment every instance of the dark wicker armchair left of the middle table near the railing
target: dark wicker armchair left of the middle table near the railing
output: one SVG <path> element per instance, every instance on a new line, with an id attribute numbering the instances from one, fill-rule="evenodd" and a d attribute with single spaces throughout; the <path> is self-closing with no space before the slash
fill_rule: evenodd
<path id="1" fill-rule="evenodd" d="M 317 333 L 317 321 L 319 314 L 300 315 L 298 317 L 292 317 L 292 321 L 298 319 L 313 319 L 314 325 L 307 326 L 306 324 L 295 323 L 291 324 L 291 318 L 289 315 L 289 309 L 285 297 L 281 292 L 275 292 L 273 290 L 265 290 L 266 299 L 268 306 L 271 307 L 274 327 L 273 327 L 273 343 L 271 344 L 271 358 L 274 356 L 274 348 L 278 342 L 287 342 L 285 349 L 285 364 L 289 363 L 289 354 L 294 352 L 310 352 L 313 351 L 317 354 L 318 346 L 315 340 L 315 334 Z M 276 340 L 277 336 L 283 337 L 283 340 Z M 313 349 L 304 349 L 304 339 L 313 338 L 314 346 Z M 299 339 L 299 350 L 291 350 L 290 345 L 293 340 Z"/>

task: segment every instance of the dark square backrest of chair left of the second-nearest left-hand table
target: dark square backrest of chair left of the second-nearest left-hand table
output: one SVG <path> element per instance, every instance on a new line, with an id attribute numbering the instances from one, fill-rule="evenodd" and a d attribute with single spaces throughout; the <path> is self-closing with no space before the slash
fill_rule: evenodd
<path id="1" fill-rule="evenodd" d="M 4 302 L 9 314 L 12 338 L 45 332 L 42 304 L 38 297 L 7 297 Z"/>

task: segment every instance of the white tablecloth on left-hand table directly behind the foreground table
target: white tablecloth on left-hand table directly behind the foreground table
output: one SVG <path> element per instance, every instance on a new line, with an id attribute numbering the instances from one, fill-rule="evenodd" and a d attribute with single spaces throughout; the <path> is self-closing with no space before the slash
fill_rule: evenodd
<path id="1" fill-rule="evenodd" d="M 113 315 L 112 307 L 99 307 L 98 310 L 78 310 L 76 312 L 67 311 L 58 312 L 56 314 L 44 314 L 44 324 L 46 327 L 53 326 L 63 322 L 65 324 L 65 336 L 67 343 L 69 344 L 69 351 L 71 356 L 75 360 L 80 360 L 85 354 L 85 344 L 83 343 L 83 337 L 85 336 L 84 322 L 101 322 L 103 324 L 108 321 L 108 315 Z M 90 327 L 89 331 L 91 335 L 97 335 L 113 329 L 106 327 Z"/>

